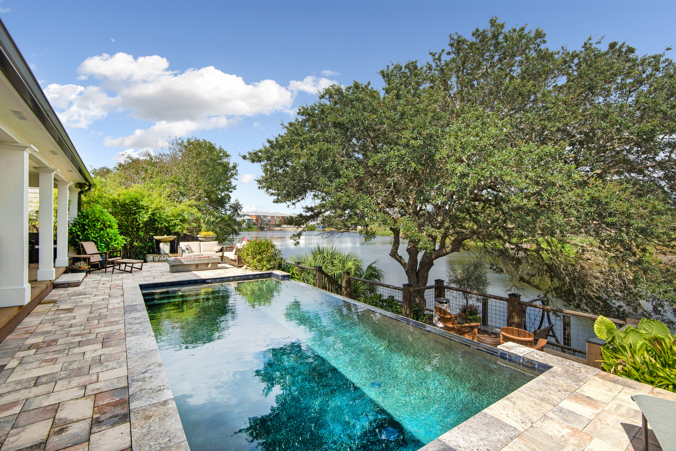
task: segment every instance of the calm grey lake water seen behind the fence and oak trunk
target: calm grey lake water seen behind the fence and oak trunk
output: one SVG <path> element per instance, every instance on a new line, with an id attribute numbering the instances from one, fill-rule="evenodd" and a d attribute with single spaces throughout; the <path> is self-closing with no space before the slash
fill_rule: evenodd
<path id="1" fill-rule="evenodd" d="M 323 237 L 321 236 L 322 232 L 305 232 L 300 239 L 298 246 L 293 245 L 293 241 L 289 239 L 289 236 L 295 231 L 287 230 L 270 230 L 264 232 L 243 232 L 239 234 L 238 241 L 243 237 L 247 236 L 248 238 L 254 238 L 256 236 L 262 236 L 272 240 L 284 254 L 284 257 L 289 257 L 290 255 L 309 253 L 310 249 L 313 246 L 318 244 L 323 244 L 326 246 L 337 246 L 344 251 L 352 251 L 362 259 L 364 263 L 368 265 L 372 261 L 378 261 L 376 264 L 380 269 L 385 272 L 385 282 L 386 284 L 402 286 L 408 282 L 406 280 L 406 273 L 399 263 L 397 263 L 392 257 L 389 256 L 389 251 L 392 248 L 393 237 L 391 236 L 377 236 L 369 242 L 364 242 L 364 237 L 358 233 L 347 233 L 337 237 Z M 408 259 L 408 254 L 406 254 L 406 240 L 402 240 L 402 244 L 399 247 L 399 254 Z M 448 280 L 446 272 L 448 271 L 450 265 L 462 265 L 465 261 L 470 259 L 470 255 L 464 250 L 459 253 L 453 253 L 447 257 L 442 257 L 437 259 L 429 273 L 428 285 L 434 284 L 435 279 Z M 516 287 L 512 286 L 512 280 L 509 275 L 506 274 L 496 274 L 492 271 L 488 272 L 488 282 L 489 287 L 487 292 L 489 294 L 496 294 L 497 296 L 507 296 L 511 292 L 521 293 L 522 300 L 531 300 L 538 297 L 538 293 L 533 288 L 528 286 L 523 286 L 519 284 Z"/>

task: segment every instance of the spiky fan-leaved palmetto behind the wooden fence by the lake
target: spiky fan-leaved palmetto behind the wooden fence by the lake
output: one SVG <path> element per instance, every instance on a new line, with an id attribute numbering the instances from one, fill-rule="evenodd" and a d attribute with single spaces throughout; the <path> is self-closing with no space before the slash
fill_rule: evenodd
<path id="1" fill-rule="evenodd" d="M 385 277 L 385 273 L 375 265 L 378 263 L 377 260 L 364 267 L 362 257 L 354 252 L 343 252 L 335 246 L 314 246 L 310 249 L 310 253 L 290 255 L 289 260 L 299 261 L 304 266 L 321 266 L 325 273 L 339 283 L 343 280 L 343 271 L 348 271 L 349 275 L 360 277 L 360 279 L 375 282 L 381 282 Z M 311 271 L 299 271 L 298 280 L 314 285 L 314 276 L 315 273 Z M 350 293 L 354 298 L 360 298 L 372 296 L 377 293 L 377 290 L 375 285 L 353 280 L 350 284 Z"/>

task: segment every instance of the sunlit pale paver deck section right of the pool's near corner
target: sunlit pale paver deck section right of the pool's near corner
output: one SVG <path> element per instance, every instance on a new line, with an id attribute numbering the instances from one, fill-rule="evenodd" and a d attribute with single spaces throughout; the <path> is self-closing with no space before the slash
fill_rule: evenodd
<path id="1" fill-rule="evenodd" d="M 419 451 L 642 451 L 634 394 L 652 388 L 558 356 L 507 343 L 500 349 L 552 367 Z M 660 450 L 649 429 L 650 450 Z"/>

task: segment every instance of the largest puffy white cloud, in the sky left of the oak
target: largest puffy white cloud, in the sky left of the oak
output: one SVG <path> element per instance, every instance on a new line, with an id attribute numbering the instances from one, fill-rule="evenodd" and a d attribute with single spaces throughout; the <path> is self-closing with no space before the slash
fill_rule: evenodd
<path id="1" fill-rule="evenodd" d="M 64 109 L 61 120 L 76 128 L 87 128 L 111 111 L 131 111 L 131 117 L 153 122 L 149 128 L 104 141 L 108 146 L 138 149 L 154 147 L 170 136 L 233 125 L 237 116 L 284 111 L 291 107 L 292 91 L 312 89 L 308 92 L 314 93 L 317 86 L 331 84 L 324 78 L 306 77 L 291 82 L 297 88 L 291 89 L 290 84 L 287 89 L 274 80 L 247 84 L 213 66 L 185 72 L 168 68 L 167 59 L 158 55 L 137 59 L 126 53 L 97 55 L 82 62 L 78 72 L 80 80 L 100 80 L 98 86 L 50 84 L 45 93 L 55 107 Z"/>

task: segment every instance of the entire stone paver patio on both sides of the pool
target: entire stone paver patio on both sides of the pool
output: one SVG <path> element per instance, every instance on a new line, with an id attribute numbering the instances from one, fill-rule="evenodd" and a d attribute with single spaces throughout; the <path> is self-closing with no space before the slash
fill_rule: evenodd
<path id="1" fill-rule="evenodd" d="M 189 451 L 139 284 L 247 276 L 164 262 L 55 288 L 0 344 L 0 451 Z M 523 346 L 548 367 L 422 450 L 642 450 L 632 394 L 676 395 Z M 131 406 L 131 409 L 130 409 Z M 652 436 L 651 450 L 659 450 Z"/>

